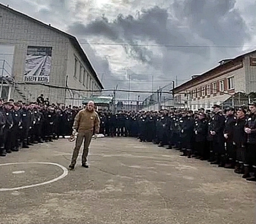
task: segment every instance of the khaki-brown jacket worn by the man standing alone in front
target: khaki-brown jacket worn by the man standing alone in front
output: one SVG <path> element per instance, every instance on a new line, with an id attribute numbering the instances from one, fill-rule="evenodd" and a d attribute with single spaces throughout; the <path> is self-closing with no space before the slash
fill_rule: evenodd
<path id="1" fill-rule="evenodd" d="M 100 128 L 100 119 L 95 111 L 86 109 L 80 110 L 75 116 L 73 129 L 77 132 L 87 132 L 89 130 L 98 132 Z"/>

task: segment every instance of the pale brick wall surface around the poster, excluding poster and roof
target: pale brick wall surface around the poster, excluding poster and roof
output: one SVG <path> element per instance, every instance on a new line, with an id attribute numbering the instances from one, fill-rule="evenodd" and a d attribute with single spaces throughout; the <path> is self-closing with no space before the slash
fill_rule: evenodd
<path id="1" fill-rule="evenodd" d="M 15 46 L 13 75 L 16 81 L 23 82 L 27 46 L 47 46 L 53 48 L 50 81 L 47 84 L 65 87 L 66 75 L 68 75 L 68 87 L 85 89 L 86 86 L 83 86 L 78 79 L 73 77 L 75 55 L 79 58 L 79 54 L 75 51 L 68 37 L 32 19 L 16 15 L 1 6 L 0 15 L 0 44 Z M 87 69 L 82 59 L 79 58 L 79 60 Z M 96 82 L 94 81 L 94 83 Z M 26 86 L 26 89 L 29 90 L 29 101 L 34 101 L 38 95 L 43 93 L 45 98 L 49 97 L 53 103 L 64 102 L 64 89 L 28 83 Z M 24 87 L 20 86 L 20 88 L 23 89 Z M 80 94 L 84 95 L 83 92 Z M 11 97 L 20 98 L 17 93 Z M 67 97 L 71 96 L 67 94 Z"/>

